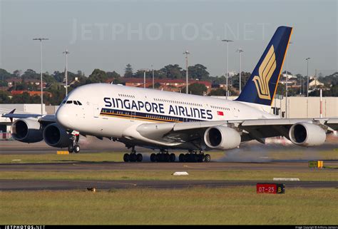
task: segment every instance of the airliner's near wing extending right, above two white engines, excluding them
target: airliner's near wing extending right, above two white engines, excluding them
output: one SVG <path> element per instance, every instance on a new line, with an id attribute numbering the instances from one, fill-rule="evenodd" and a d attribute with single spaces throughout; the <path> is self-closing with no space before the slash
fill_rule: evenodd
<path id="1" fill-rule="evenodd" d="M 207 128 L 229 126 L 241 133 L 242 141 L 257 140 L 265 143 L 264 138 L 285 136 L 288 138 L 290 127 L 295 123 L 316 123 L 328 133 L 338 130 L 338 118 L 277 118 L 236 121 L 201 121 L 186 123 L 145 123 L 136 128 L 143 138 L 150 141 L 185 143 L 203 139 Z"/>

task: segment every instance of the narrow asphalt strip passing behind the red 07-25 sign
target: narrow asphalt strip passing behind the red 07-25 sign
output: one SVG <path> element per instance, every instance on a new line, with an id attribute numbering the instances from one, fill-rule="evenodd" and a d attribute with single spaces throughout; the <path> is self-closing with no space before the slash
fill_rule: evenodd
<path id="1" fill-rule="evenodd" d="M 0 190 L 97 190 L 111 188 L 193 188 L 253 186 L 272 181 L 246 180 L 0 180 Z M 280 181 L 286 188 L 337 188 L 338 181 Z"/>

